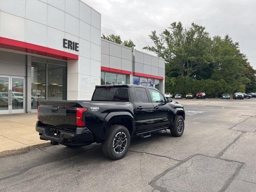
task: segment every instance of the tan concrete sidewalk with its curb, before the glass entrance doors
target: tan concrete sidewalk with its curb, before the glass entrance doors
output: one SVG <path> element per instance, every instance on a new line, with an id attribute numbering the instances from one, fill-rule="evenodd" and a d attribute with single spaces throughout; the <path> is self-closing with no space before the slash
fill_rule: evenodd
<path id="1" fill-rule="evenodd" d="M 0 115 L 0 156 L 50 146 L 39 139 L 36 120 L 35 113 Z"/>

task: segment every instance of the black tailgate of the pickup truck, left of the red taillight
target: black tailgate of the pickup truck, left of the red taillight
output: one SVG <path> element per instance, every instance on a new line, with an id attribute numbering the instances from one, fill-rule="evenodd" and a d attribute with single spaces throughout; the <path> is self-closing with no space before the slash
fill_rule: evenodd
<path id="1" fill-rule="evenodd" d="M 76 130 L 76 101 L 40 101 L 38 120 L 45 126 L 64 130 Z"/>

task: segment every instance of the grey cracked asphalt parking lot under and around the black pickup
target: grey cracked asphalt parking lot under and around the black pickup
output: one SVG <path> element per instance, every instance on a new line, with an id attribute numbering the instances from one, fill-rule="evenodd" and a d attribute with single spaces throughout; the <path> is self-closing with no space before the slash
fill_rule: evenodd
<path id="1" fill-rule="evenodd" d="M 0 191 L 255 192 L 256 99 L 178 102 L 186 110 L 182 137 L 132 138 L 118 161 L 100 144 L 2 157 Z"/>

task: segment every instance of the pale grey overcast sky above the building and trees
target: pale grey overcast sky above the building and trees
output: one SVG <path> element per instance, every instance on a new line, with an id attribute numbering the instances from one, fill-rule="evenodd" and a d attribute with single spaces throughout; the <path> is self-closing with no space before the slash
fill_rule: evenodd
<path id="1" fill-rule="evenodd" d="M 255 0 L 83 1 L 101 13 L 102 33 L 130 38 L 137 50 L 152 44 L 148 38 L 152 30 L 160 34 L 172 22 L 181 21 L 187 27 L 195 22 L 211 36 L 229 34 L 256 69 Z"/>

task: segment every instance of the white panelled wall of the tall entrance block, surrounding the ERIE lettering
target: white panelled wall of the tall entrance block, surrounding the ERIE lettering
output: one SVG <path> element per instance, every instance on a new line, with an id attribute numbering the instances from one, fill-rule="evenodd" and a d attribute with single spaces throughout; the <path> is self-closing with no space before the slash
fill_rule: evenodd
<path id="1" fill-rule="evenodd" d="M 100 84 L 100 34 L 101 14 L 80 0 L 0 0 L 0 37 L 79 55 L 68 61 L 68 100 L 90 100 Z"/>

